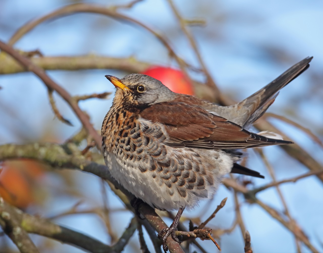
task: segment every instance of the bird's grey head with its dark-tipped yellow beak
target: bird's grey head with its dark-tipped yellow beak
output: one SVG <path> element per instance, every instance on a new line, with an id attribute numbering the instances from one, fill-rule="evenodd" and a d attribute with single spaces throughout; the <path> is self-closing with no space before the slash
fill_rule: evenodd
<path id="1" fill-rule="evenodd" d="M 171 101 L 176 93 L 164 86 L 161 81 L 149 75 L 130 74 L 122 79 L 112 75 L 105 76 L 117 88 L 114 102 L 133 106 L 153 105 Z M 118 101 L 120 100 L 120 101 Z"/>

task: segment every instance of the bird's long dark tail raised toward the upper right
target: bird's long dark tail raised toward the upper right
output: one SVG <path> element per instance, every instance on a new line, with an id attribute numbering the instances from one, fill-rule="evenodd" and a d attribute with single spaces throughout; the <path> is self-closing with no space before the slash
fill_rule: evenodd
<path id="1" fill-rule="evenodd" d="M 244 125 L 251 124 L 262 116 L 268 107 L 274 102 L 277 92 L 307 70 L 309 67 L 308 63 L 312 59 L 313 57 L 307 57 L 299 63 L 296 63 L 283 74 L 278 76 L 274 81 L 241 101 L 239 104 L 245 108 L 249 108 L 250 110 L 250 117 L 245 121 Z"/>

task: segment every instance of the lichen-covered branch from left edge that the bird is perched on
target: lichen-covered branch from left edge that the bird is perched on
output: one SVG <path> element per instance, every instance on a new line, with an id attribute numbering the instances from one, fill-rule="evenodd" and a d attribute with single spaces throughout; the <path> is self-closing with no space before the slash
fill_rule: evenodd
<path id="1" fill-rule="evenodd" d="M 64 148 L 58 144 L 26 144 L 15 145 L 6 144 L 0 146 L 0 160 L 14 159 L 14 158 L 31 158 L 41 160 L 48 163 L 55 168 L 71 168 L 79 169 L 84 172 L 92 173 L 100 178 L 109 180 L 113 184 L 114 192 L 121 198 L 127 205 L 127 208 L 134 212 L 134 209 L 130 206 L 129 199 L 133 199 L 134 196 L 125 190 L 111 175 L 105 165 L 97 164 L 95 162 L 87 160 L 82 155 L 67 154 Z M 126 196 L 123 198 L 119 195 L 120 191 Z M 141 204 L 139 206 L 139 212 L 144 216 L 148 223 L 157 231 L 160 232 L 163 228 L 168 226 L 163 222 L 160 216 L 157 215 L 155 210 L 147 204 Z M 149 231 L 148 224 L 142 221 L 147 231 Z M 155 234 L 156 236 L 156 234 Z M 184 253 L 181 246 L 175 242 L 171 237 L 166 240 L 168 249 L 172 253 Z"/>

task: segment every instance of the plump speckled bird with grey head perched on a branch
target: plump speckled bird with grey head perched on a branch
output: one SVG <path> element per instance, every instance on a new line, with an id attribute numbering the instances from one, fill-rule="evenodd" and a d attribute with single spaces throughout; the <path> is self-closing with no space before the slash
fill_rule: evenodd
<path id="1" fill-rule="evenodd" d="M 164 252 L 168 236 L 180 242 L 174 231 L 183 210 L 213 198 L 226 174 L 264 178 L 237 163 L 241 149 L 292 144 L 275 133 L 248 129 L 312 58 L 231 106 L 174 93 L 148 75 L 105 75 L 116 87 L 101 128 L 105 163 L 137 199 L 160 210 L 178 210 L 171 226 L 158 234 Z"/>

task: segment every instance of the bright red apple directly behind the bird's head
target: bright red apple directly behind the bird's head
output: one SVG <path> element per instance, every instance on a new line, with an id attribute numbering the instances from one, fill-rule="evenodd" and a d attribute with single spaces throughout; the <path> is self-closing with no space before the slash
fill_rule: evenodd
<path id="1" fill-rule="evenodd" d="M 194 95 L 192 83 L 180 70 L 169 67 L 152 66 L 141 74 L 149 75 L 161 81 L 173 92 Z"/>

